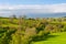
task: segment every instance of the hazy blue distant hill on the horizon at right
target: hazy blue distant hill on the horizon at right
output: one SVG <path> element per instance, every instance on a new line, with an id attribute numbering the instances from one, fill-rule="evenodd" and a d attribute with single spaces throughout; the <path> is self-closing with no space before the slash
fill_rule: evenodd
<path id="1" fill-rule="evenodd" d="M 66 16 L 66 13 L 30 13 L 29 18 L 62 18 Z"/>

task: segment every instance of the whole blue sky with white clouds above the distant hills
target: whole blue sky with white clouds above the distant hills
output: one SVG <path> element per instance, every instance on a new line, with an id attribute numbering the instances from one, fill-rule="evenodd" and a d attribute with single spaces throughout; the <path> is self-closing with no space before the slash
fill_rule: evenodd
<path id="1" fill-rule="evenodd" d="M 66 0 L 0 0 L 0 15 L 66 12 Z"/>

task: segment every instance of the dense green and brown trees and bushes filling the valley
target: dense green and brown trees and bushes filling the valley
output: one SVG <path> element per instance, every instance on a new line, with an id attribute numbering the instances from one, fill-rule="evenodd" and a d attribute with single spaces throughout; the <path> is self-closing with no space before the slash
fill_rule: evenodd
<path id="1" fill-rule="evenodd" d="M 66 18 L 0 18 L 0 44 L 33 44 L 52 33 L 66 31 Z"/>

